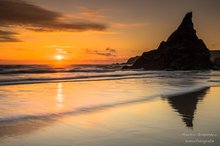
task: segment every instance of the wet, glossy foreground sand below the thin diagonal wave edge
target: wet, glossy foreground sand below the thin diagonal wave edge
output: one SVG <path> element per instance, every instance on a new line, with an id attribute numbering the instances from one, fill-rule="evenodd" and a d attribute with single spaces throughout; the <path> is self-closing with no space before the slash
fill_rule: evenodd
<path id="1" fill-rule="evenodd" d="M 220 87 L 79 114 L 0 123 L 1 146 L 220 145 Z"/>

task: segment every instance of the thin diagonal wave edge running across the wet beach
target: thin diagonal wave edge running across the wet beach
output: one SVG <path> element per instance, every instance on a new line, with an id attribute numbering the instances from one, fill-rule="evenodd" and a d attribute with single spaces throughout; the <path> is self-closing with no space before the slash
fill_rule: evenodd
<path id="1" fill-rule="evenodd" d="M 142 103 L 142 102 L 148 102 L 148 101 L 152 101 L 152 100 L 157 100 L 158 98 L 169 100 L 170 98 L 179 98 L 182 96 L 197 94 L 197 93 L 203 92 L 204 90 L 208 90 L 209 88 L 211 88 L 211 87 L 210 86 L 194 87 L 194 88 L 190 88 L 185 91 L 176 91 L 176 92 L 172 92 L 172 93 L 158 94 L 158 95 L 147 96 L 144 98 L 137 98 L 137 99 L 133 99 L 133 100 L 119 101 L 119 102 L 113 102 L 113 103 L 108 103 L 108 104 L 99 104 L 99 105 L 94 105 L 91 107 L 82 107 L 82 108 L 64 111 L 64 112 L 60 112 L 60 113 L 11 117 L 11 118 L 6 118 L 6 119 L 0 118 L 0 124 L 4 124 L 4 123 L 12 123 L 13 124 L 13 123 L 23 122 L 23 121 L 25 122 L 25 121 L 29 121 L 29 120 L 45 120 L 45 119 L 59 118 L 62 116 L 74 116 L 74 115 L 86 114 L 86 113 L 90 113 L 90 112 L 98 112 L 100 110 L 114 108 L 114 107 L 128 106 L 130 104 L 138 104 L 138 103 Z"/>

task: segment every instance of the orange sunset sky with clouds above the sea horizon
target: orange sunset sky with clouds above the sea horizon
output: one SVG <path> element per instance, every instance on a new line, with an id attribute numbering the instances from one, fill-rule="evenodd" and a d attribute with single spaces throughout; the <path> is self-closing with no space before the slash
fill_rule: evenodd
<path id="1" fill-rule="evenodd" d="M 193 11 L 220 50 L 219 0 L 0 0 L 0 63 L 116 63 L 155 49 Z"/>

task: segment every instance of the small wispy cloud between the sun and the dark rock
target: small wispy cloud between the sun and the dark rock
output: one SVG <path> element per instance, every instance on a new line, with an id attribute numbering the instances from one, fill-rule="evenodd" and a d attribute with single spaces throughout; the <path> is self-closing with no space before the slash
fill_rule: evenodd
<path id="1" fill-rule="evenodd" d="M 86 53 L 107 56 L 107 57 L 115 57 L 116 56 L 116 50 L 111 49 L 111 48 L 106 48 L 103 51 L 86 49 Z"/>

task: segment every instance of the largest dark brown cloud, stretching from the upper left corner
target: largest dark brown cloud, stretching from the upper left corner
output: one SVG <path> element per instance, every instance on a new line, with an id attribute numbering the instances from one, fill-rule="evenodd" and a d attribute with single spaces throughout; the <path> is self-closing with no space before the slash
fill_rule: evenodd
<path id="1" fill-rule="evenodd" d="M 65 22 L 62 13 L 50 11 L 21 0 L 0 0 L 0 26 L 20 26 L 33 31 L 103 31 L 105 24 Z M 13 35 L 13 34 L 11 34 Z M 8 34 L 7 37 L 11 37 Z M 7 40 L 7 39 L 6 39 Z M 10 39 L 9 39 L 10 41 Z"/>

